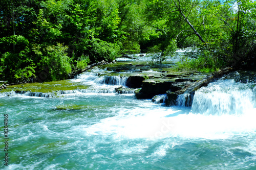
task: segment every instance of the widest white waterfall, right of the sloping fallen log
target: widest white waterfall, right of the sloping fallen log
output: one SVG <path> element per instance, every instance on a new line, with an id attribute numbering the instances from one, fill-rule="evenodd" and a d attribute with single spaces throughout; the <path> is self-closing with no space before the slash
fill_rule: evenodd
<path id="1" fill-rule="evenodd" d="M 191 110 L 205 115 L 249 113 L 256 106 L 256 88 L 251 85 L 234 80 L 210 83 L 196 91 Z"/>

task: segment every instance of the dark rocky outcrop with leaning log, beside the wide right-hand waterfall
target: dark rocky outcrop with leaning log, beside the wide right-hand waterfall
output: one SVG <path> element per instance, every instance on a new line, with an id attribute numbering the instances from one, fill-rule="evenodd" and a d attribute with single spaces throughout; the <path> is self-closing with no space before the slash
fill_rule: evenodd
<path id="1" fill-rule="evenodd" d="M 214 79 L 222 77 L 231 70 L 232 68 L 228 67 L 203 78 L 193 74 L 190 76 L 168 74 L 165 77 L 162 75 L 161 79 L 142 81 L 142 88 L 136 91 L 135 94 L 137 99 L 152 99 L 155 95 L 166 93 L 165 103 L 167 106 L 191 106 L 197 89 L 207 85 Z"/>

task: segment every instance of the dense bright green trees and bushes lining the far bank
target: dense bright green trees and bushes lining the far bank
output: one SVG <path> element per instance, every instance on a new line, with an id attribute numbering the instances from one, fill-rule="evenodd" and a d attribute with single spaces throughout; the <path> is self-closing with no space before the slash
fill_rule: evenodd
<path id="1" fill-rule="evenodd" d="M 0 80 L 59 80 L 89 63 L 191 47 L 179 69 L 255 62 L 252 0 L 0 0 Z M 195 54 L 196 53 L 196 54 Z M 44 73 L 44 74 L 43 74 Z"/>

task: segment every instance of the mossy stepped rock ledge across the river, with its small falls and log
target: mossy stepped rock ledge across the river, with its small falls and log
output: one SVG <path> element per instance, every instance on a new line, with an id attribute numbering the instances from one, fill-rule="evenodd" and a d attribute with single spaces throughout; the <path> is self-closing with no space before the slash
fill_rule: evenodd
<path id="1" fill-rule="evenodd" d="M 191 106 L 195 90 L 233 71 L 232 68 L 226 68 L 214 73 L 176 72 L 174 66 L 177 61 L 168 59 L 162 64 L 152 64 L 150 57 L 145 55 L 120 58 L 111 63 L 101 61 L 77 71 L 73 74 L 74 79 L 9 85 L 0 92 L 7 96 L 23 94 L 45 98 L 77 92 L 135 93 L 137 99 L 152 99 L 153 102 L 158 99 L 166 106 L 179 103 Z M 76 81 L 83 75 L 92 84 Z M 99 85 L 112 86 L 106 88 Z"/>

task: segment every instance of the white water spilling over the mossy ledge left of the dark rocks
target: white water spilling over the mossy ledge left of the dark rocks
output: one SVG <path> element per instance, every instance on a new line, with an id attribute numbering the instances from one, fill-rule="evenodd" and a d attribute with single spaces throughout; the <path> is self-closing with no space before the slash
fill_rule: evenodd
<path id="1" fill-rule="evenodd" d="M 107 73 L 110 74 L 111 71 L 108 71 Z M 71 93 L 134 93 L 134 89 L 126 88 L 126 82 L 129 77 L 107 75 L 101 76 L 101 74 L 106 74 L 106 70 L 96 68 L 92 69 L 91 72 L 84 72 L 83 74 L 76 76 L 76 79 L 70 80 L 70 82 L 80 83 L 83 86 L 75 90 L 56 90 L 53 92 L 33 92 L 30 90 L 15 90 L 12 92 L 1 93 L 0 96 L 22 94 L 41 98 L 52 98 L 55 96 L 61 96 L 62 94 Z M 120 86 L 123 86 L 122 91 L 117 91 L 115 88 Z M 51 86 L 47 88 L 51 88 Z"/>

